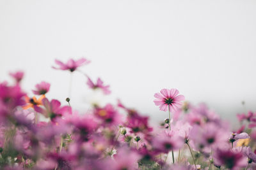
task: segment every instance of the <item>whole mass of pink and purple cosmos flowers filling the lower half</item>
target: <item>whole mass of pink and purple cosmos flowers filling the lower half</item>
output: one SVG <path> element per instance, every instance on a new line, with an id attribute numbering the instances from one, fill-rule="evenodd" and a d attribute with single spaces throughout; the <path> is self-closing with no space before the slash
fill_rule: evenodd
<path id="1" fill-rule="evenodd" d="M 61 69 L 81 72 L 86 59 L 55 60 Z M 241 128 L 230 130 L 205 104 L 193 106 L 177 89 L 162 89 L 154 103 L 168 118 L 150 127 L 148 117 L 117 104 L 93 104 L 79 114 L 47 98 L 50 84 L 22 90 L 22 72 L 11 73 L 15 85 L 0 83 L 1 169 L 256 169 L 256 114 L 237 115 Z M 98 78 L 87 85 L 111 93 Z M 172 116 L 172 119 L 171 119 Z M 249 123 L 244 123 L 244 120 Z"/>

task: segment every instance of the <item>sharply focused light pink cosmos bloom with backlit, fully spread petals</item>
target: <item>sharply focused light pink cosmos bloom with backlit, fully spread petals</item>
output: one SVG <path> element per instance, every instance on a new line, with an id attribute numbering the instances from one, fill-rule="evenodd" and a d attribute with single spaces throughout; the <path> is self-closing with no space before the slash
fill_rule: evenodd
<path id="1" fill-rule="evenodd" d="M 157 98 L 154 103 L 162 111 L 166 111 L 168 108 L 170 111 L 177 111 L 181 107 L 181 102 L 185 100 L 183 95 L 178 95 L 179 90 L 177 89 L 162 89 L 160 92 L 154 95 Z"/>

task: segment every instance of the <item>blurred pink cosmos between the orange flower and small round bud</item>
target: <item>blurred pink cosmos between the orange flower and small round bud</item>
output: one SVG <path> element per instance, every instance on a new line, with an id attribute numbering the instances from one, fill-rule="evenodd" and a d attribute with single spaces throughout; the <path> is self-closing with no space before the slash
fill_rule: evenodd
<path id="1" fill-rule="evenodd" d="M 61 106 L 60 101 L 56 99 L 52 99 L 50 102 L 47 98 L 44 98 L 42 99 L 42 104 L 45 109 L 35 107 L 35 110 L 42 113 L 45 117 L 51 118 L 53 122 L 58 117 L 60 118 L 65 114 L 72 113 L 70 106 Z"/>

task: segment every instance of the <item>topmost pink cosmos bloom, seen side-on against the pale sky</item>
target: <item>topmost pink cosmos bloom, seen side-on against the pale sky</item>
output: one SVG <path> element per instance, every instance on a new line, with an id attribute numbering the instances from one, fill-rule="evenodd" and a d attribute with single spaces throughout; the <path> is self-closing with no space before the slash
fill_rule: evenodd
<path id="1" fill-rule="evenodd" d="M 69 71 L 73 72 L 77 69 L 77 67 L 83 66 L 84 64 L 89 64 L 90 61 L 87 59 L 81 58 L 76 61 L 73 59 L 69 59 L 66 64 L 64 64 L 60 60 L 55 60 L 55 63 L 58 64 L 60 67 L 52 66 L 52 68 L 61 69 L 61 70 L 69 70 Z"/>

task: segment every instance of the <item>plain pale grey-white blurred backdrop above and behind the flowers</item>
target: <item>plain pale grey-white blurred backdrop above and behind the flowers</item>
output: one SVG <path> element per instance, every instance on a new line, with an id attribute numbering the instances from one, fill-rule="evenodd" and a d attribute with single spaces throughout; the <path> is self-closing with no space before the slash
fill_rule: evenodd
<path id="1" fill-rule="evenodd" d="M 177 88 L 235 122 L 236 113 L 256 111 L 255 9 L 253 0 L 0 0 L 0 81 L 22 69 L 29 94 L 45 80 L 48 97 L 65 103 L 70 75 L 52 69 L 54 59 L 86 57 L 92 63 L 81 69 L 111 85 L 102 101 L 120 98 L 159 122 L 168 114 L 154 93 Z M 72 106 L 88 110 L 86 78 L 72 81 Z"/>

